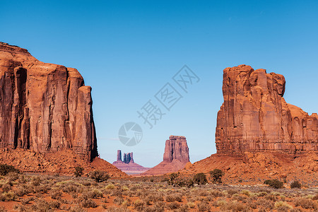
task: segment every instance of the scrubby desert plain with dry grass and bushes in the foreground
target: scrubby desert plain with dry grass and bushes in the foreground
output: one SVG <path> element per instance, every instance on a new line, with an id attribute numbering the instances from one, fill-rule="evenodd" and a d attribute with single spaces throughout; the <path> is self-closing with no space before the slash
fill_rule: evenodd
<path id="1" fill-rule="evenodd" d="M 251 187 L 221 184 L 220 178 L 211 175 L 208 180 L 204 173 L 161 177 L 109 179 L 100 171 L 89 177 L 8 172 L 0 177 L 0 211 L 318 210 L 318 189 L 282 188 L 279 180 Z M 291 182 L 290 187 L 295 185 Z"/>

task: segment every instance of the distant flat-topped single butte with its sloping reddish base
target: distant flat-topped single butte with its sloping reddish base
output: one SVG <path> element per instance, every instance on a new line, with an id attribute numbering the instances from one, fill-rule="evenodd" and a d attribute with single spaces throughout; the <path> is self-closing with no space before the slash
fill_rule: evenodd
<path id="1" fill-rule="evenodd" d="M 189 148 L 184 136 L 170 136 L 165 141 L 165 153 L 163 153 L 163 162 L 151 168 L 141 175 L 164 175 L 169 172 L 176 172 L 185 167 L 190 162 Z"/>

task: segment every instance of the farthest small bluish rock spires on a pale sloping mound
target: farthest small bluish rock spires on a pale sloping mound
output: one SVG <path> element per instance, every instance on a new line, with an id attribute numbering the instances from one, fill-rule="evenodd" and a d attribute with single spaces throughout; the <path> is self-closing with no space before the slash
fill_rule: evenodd
<path id="1" fill-rule="evenodd" d="M 140 174 L 149 170 L 148 167 L 143 167 L 134 162 L 133 153 L 124 153 L 124 161 L 122 161 L 122 151 L 120 150 L 117 151 L 117 160 L 112 165 L 129 175 Z"/>

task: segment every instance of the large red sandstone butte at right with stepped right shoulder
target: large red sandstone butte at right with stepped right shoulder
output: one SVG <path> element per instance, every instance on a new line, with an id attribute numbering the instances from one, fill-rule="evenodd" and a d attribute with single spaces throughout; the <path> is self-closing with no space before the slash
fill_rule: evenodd
<path id="1" fill-rule="evenodd" d="M 318 116 L 285 102 L 285 78 L 240 65 L 223 71 L 218 153 L 318 152 Z"/>

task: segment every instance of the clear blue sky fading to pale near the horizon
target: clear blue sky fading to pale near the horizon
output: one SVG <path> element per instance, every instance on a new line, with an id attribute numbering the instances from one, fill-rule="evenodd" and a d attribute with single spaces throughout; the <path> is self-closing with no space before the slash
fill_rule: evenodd
<path id="1" fill-rule="evenodd" d="M 152 167 L 165 140 L 186 136 L 190 160 L 216 153 L 223 69 L 248 64 L 281 73 L 285 100 L 318 112 L 318 1 L 3 1 L 0 40 L 40 61 L 73 67 L 93 88 L 98 150 Z M 153 129 L 136 113 L 187 64 L 201 81 Z M 177 88 L 177 87 L 176 87 Z M 119 127 L 143 139 L 122 145 Z"/>

